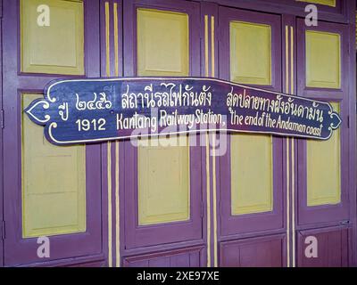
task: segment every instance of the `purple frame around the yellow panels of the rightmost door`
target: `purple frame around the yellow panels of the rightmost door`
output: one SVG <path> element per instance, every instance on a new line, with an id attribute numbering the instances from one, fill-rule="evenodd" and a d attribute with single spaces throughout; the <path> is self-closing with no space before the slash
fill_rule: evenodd
<path id="1" fill-rule="evenodd" d="M 341 38 L 341 86 L 338 89 L 309 88 L 305 86 L 305 31 L 313 30 L 331 32 L 340 35 Z M 325 102 L 338 102 L 340 104 L 340 116 L 343 123 L 339 127 L 340 132 L 340 197 L 341 201 L 336 205 L 307 206 L 307 143 L 306 140 L 297 140 L 297 195 L 300 201 L 297 205 L 297 224 L 312 224 L 316 227 L 326 225 L 328 222 L 349 220 L 353 213 L 349 213 L 350 191 L 348 191 L 348 136 L 351 129 L 347 126 L 349 86 L 348 86 L 348 33 L 345 25 L 331 24 L 320 20 L 318 27 L 306 27 L 303 19 L 296 18 L 296 37 L 300 41 L 296 43 L 297 62 L 297 94 L 307 98 L 314 98 Z M 326 223 L 326 224 L 324 224 Z"/>

